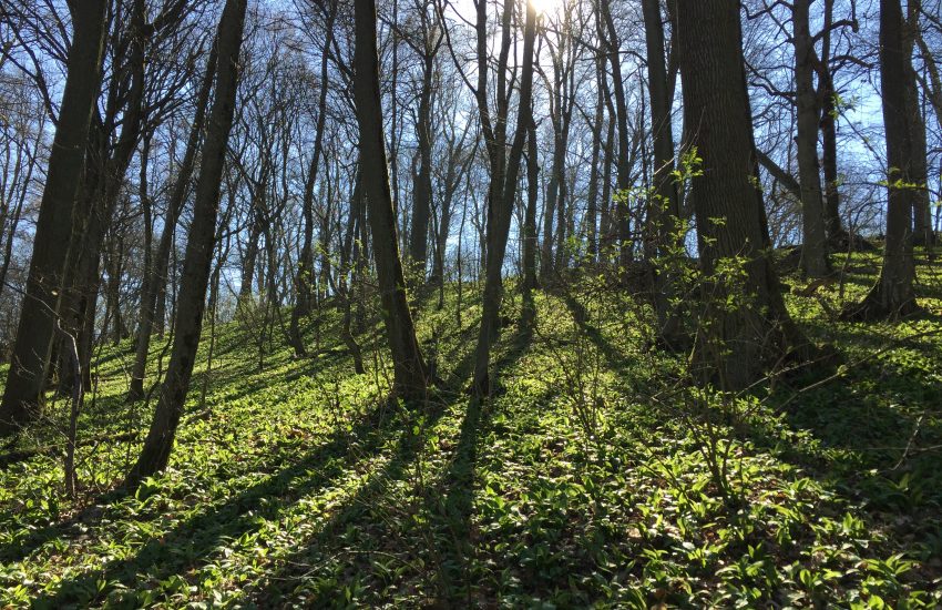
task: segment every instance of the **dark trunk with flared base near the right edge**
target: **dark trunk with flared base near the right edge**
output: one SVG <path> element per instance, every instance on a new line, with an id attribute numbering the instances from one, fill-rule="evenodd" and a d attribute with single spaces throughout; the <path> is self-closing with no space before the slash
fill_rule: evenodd
<path id="1" fill-rule="evenodd" d="M 908 70 L 907 67 L 910 67 Z M 908 315 L 918 311 L 915 265 L 912 257 L 912 132 L 907 112 L 912 82 L 910 60 L 903 52 L 903 13 L 900 0 L 880 0 L 880 92 L 887 140 L 887 240 L 877 284 L 863 302 L 844 317 L 869 319 Z"/>

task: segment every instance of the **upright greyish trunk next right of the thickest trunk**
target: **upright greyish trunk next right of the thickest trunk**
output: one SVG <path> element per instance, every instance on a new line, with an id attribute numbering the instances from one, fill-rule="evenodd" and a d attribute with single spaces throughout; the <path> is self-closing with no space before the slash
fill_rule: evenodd
<path id="1" fill-rule="evenodd" d="M 815 41 L 811 38 L 808 10 L 811 0 L 795 0 L 795 83 L 798 104 L 798 181 L 801 190 L 801 220 L 805 238 L 801 245 L 801 271 L 808 277 L 830 273 L 825 232 L 825 203 L 818 166 L 818 100 L 815 92 Z"/>

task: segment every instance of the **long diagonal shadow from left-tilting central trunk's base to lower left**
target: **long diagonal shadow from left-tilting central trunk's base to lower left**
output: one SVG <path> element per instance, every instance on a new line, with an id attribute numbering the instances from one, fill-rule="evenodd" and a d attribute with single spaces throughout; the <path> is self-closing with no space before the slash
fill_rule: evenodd
<path id="1" fill-rule="evenodd" d="M 336 433 L 290 466 L 265 480 L 208 506 L 199 515 L 180 523 L 158 539 L 149 540 L 129 560 L 115 559 L 96 570 L 64 579 L 54 592 L 33 600 L 40 608 L 59 608 L 68 603 L 95 603 L 113 588 L 115 581 L 133 589 L 137 575 L 163 580 L 183 575 L 209 559 L 219 545 L 259 527 L 260 519 L 270 519 L 298 498 L 336 480 L 348 466 L 348 441 L 351 436 L 366 438 L 360 451 L 378 451 L 398 427 L 397 418 L 385 403 L 379 404 L 348 434 Z M 100 590 L 98 582 L 110 587 Z"/>

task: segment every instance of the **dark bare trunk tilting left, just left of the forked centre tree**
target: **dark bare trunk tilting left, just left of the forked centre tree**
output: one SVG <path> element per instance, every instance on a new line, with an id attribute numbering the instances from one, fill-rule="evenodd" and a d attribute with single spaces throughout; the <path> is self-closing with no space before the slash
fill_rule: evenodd
<path id="1" fill-rule="evenodd" d="M 360 163 L 366 176 L 364 191 L 369 204 L 369 224 L 376 273 L 382 299 L 382 317 L 392 350 L 393 388 L 397 396 L 422 398 L 427 370 L 416 338 L 416 327 L 406 294 L 396 211 L 389 187 L 389 166 L 382 141 L 382 108 L 379 96 L 379 55 L 376 43 L 376 1 L 356 0 L 356 48 L 354 98 L 360 128 Z"/>

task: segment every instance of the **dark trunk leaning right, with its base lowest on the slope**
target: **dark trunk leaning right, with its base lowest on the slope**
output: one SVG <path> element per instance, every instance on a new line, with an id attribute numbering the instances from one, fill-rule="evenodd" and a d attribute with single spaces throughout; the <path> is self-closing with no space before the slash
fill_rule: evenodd
<path id="1" fill-rule="evenodd" d="M 190 389 L 190 378 L 203 329 L 206 287 L 215 250 L 213 242 L 216 236 L 223 165 L 235 111 L 245 8 L 246 0 L 227 0 L 219 20 L 216 92 L 209 111 L 206 143 L 193 202 L 193 220 L 186 242 L 186 257 L 174 322 L 173 349 L 151 429 L 137 462 L 125 479 L 125 484 L 132 488 L 140 485 L 143 478 L 163 470 L 170 461 L 183 404 Z"/>

